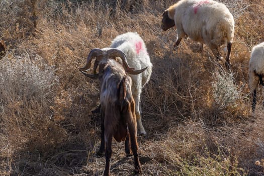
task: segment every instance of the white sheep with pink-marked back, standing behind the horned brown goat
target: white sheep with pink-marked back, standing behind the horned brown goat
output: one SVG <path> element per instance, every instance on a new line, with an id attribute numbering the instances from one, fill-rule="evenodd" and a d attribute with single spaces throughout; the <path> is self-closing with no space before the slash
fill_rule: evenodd
<path id="1" fill-rule="evenodd" d="M 144 85 L 149 81 L 152 73 L 152 63 L 150 61 L 146 46 L 142 38 L 137 33 L 128 32 L 125 34 L 118 35 L 110 45 L 110 48 L 103 48 L 102 50 L 107 51 L 109 49 L 116 48 L 121 50 L 127 56 L 128 65 L 135 69 L 147 69 L 141 74 L 129 76 L 132 78 L 132 94 L 136 102 L 136 118 L 137 126 L 140 135 L 146 135 L 146 131 L 141 122 L 141 106 L 140 106 L 140 95 Z M 121 59 L 118 59 L 122 63 Z M 87 65 L 87 64 L 86 64 Z M 87 70 L 91 66 L 87 65 L 82 70 Z"/>

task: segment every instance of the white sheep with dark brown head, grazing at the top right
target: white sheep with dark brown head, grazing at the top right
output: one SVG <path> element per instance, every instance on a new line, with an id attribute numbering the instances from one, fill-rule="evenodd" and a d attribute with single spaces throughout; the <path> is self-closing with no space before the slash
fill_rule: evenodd
<path id="1" fill-rule="evenodd" d="M 234 19 L 227 7 L 213 0 L 181 0 L 162 14 L 162 29 L 175 26 L 177 47 L 182 38 L 206 44 L 220 59 L 219 48 L 227 46 L 226 66 L 230 67 L 230 53 L 234 38 Z"/>

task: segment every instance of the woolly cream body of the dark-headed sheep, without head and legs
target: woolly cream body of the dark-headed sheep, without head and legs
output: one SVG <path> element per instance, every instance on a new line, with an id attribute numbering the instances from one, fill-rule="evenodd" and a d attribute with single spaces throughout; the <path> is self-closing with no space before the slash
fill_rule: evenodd
<path id="1" fill-rule="evenodd" d="M 175 4 L 174 20 L 176 27 L 182 27 L 194 41 L 220 46 L 233 40 L 234 19 L 222 3 L 211 0 L 181 1 Z"/>

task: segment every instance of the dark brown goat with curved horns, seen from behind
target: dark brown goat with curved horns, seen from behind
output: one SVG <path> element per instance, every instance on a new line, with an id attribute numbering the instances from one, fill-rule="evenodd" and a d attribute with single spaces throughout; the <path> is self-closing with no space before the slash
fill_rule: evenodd
<path id="1" fill-rule="evenodd" d="M 86 65 L 91 66 L 92 58 L 96 57 L 94 74 L 87 74 L 84 68 L 80 71 L 91 78 L 99 77 L 100 80 L 100 103 L 101 103 L 101 146 L 98 154 L 105 151 L 106 166 L 104 175 L 110 175 L 110 160 L 112 155 L 112 137 L 116 141 L 125 140 L 127 156 L 134 155 L 135 172 L 141 173 L 138 157 L 137 121 L 135 114 L 135 101 L 132 96 L 131 77 L 126 74 L 139 74 L 146 68 L 134 70 L 126 62 L 125 54 L 118 49 L 101 50 L 94 49 L 87 57 Z M 115 60 L 120 57 L 124 67 Z M 99 73 L 96 68 L 99 65 Z"/>

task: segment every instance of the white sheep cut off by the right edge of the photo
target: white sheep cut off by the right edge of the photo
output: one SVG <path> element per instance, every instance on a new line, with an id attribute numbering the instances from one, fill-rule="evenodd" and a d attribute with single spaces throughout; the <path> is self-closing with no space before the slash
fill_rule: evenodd
<path id="1" fill-rule="evenodd" d="M 264 86 L 264 42 L 254 46 L 252 48 L 250 60 L 249 60 L 249 88 L 253 93 L 252 111 L 255 111 L 256 106 L 256 89 L 258 83 Z M 263 102 L 264 105 L 264 102 Z"/>

